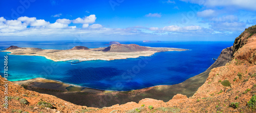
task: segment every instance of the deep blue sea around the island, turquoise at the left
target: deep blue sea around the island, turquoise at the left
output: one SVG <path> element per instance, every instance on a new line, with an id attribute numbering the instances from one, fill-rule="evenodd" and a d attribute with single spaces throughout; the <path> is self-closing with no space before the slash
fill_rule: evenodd
<path id="1" fill-rule="evenodd" d="M 74 46 L 88 48 L 107 47 L 109 42 L 0 42 L 0 49 L 10 46 L 42 49 L 71 49 Z M 129 91 L 155 85 L 172 85 L 204 72 L 218 58 L 221 51 L 233 42 L 121 42 L 135 43 L 146 47 L 169 47 L 189 49 L 182 52 L 161 52 L 149 57 L 121 60 L 94 60 L 75 64 L 54 62 L 41 56 L 8 55 L 0 52 L 0 74 L 4 73 L 4 56 L 8 55 L 8 80 L 46 78 L 65 83 L 107 89 Z M 0 63 L 1 63 L 0 62 Z"/>

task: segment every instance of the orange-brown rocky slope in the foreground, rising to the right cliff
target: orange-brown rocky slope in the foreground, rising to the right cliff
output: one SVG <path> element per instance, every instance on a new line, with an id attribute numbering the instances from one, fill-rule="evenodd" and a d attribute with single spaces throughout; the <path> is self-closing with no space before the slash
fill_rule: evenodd
<path id="1" fill-rule="evenodd" d="M 111 107 L 79 106 L 55 96 L 39 94 L 8 83 L 8 109 L 0 101 L 1 112 L 256 112 L 256 36 L 255 29 L 245 30 L 232 48 L 223 50 L 231 59 L 224 66 L 210 70 L 197 92 L 187 96 L 177 94 L 168 102 L 142 99 Z M 219 59 L 219 58 L 218 58 Z M 229 57 L 222 57 L 223 60 Z M 219 61 L 219 64 L 223 62 Z M 5 99 L 4 78 L 0 80 L 1 100 Z M 163 89 L 164 91 L 165 89 Z M 102 104 L 111 101 L 108 97 Z"/>

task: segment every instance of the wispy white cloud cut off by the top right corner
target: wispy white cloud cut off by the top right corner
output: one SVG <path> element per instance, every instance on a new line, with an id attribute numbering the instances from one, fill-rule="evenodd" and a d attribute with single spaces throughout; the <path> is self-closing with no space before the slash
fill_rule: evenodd
<path id="1" fill-rule="evenodd" d="M 231 7 L 233 9 L 249 9 L 256 10 L 254 0 L 180 0 L 194 4 L 204 5 L 207 7 Z"/>

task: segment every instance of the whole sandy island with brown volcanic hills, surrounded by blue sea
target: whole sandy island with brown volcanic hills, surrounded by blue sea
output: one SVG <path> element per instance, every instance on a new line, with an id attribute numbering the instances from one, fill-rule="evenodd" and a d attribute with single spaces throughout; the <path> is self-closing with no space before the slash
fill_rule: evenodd
<path id="1" fill-rule="evenodd" d="M 152 48 L 143 47 L 137 44 L 111 44 L 105 48 L 89 49 L 83 46 L 76 46 L 70 50 L 48 50 L 39 48 L 19 48 L 11 46 L 3 52 L 11 52 L 11 55 L 44 56 L 53 61 L 88 61 L 88 60 L 115 60 L 137 58 L 140 56 L 151 56 L 157 52 L 187 51 L 178 48 Z"/>

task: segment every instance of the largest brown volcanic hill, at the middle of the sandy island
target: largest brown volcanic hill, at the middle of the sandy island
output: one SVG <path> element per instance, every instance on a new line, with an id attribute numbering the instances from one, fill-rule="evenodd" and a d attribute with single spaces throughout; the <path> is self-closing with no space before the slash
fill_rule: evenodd
<path id="1" fill-rule="evenodd" d="M 137 44 L 112 44 L 108 48 L 102 50 L 103 52 L 138 52 L 148 51 L 147 47 L 142 47 Z"/>

